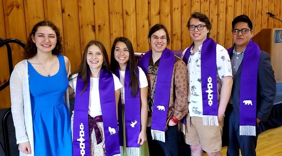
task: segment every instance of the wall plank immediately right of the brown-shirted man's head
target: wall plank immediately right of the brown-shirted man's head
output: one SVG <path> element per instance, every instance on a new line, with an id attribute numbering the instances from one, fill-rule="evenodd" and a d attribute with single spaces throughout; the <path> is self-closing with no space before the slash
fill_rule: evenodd
<path id="1" fill-rule="evenodd" d="M 181 49 L 181 1 L 171 1 L 172 28 L 170 35 L 171 49 Z"/>

